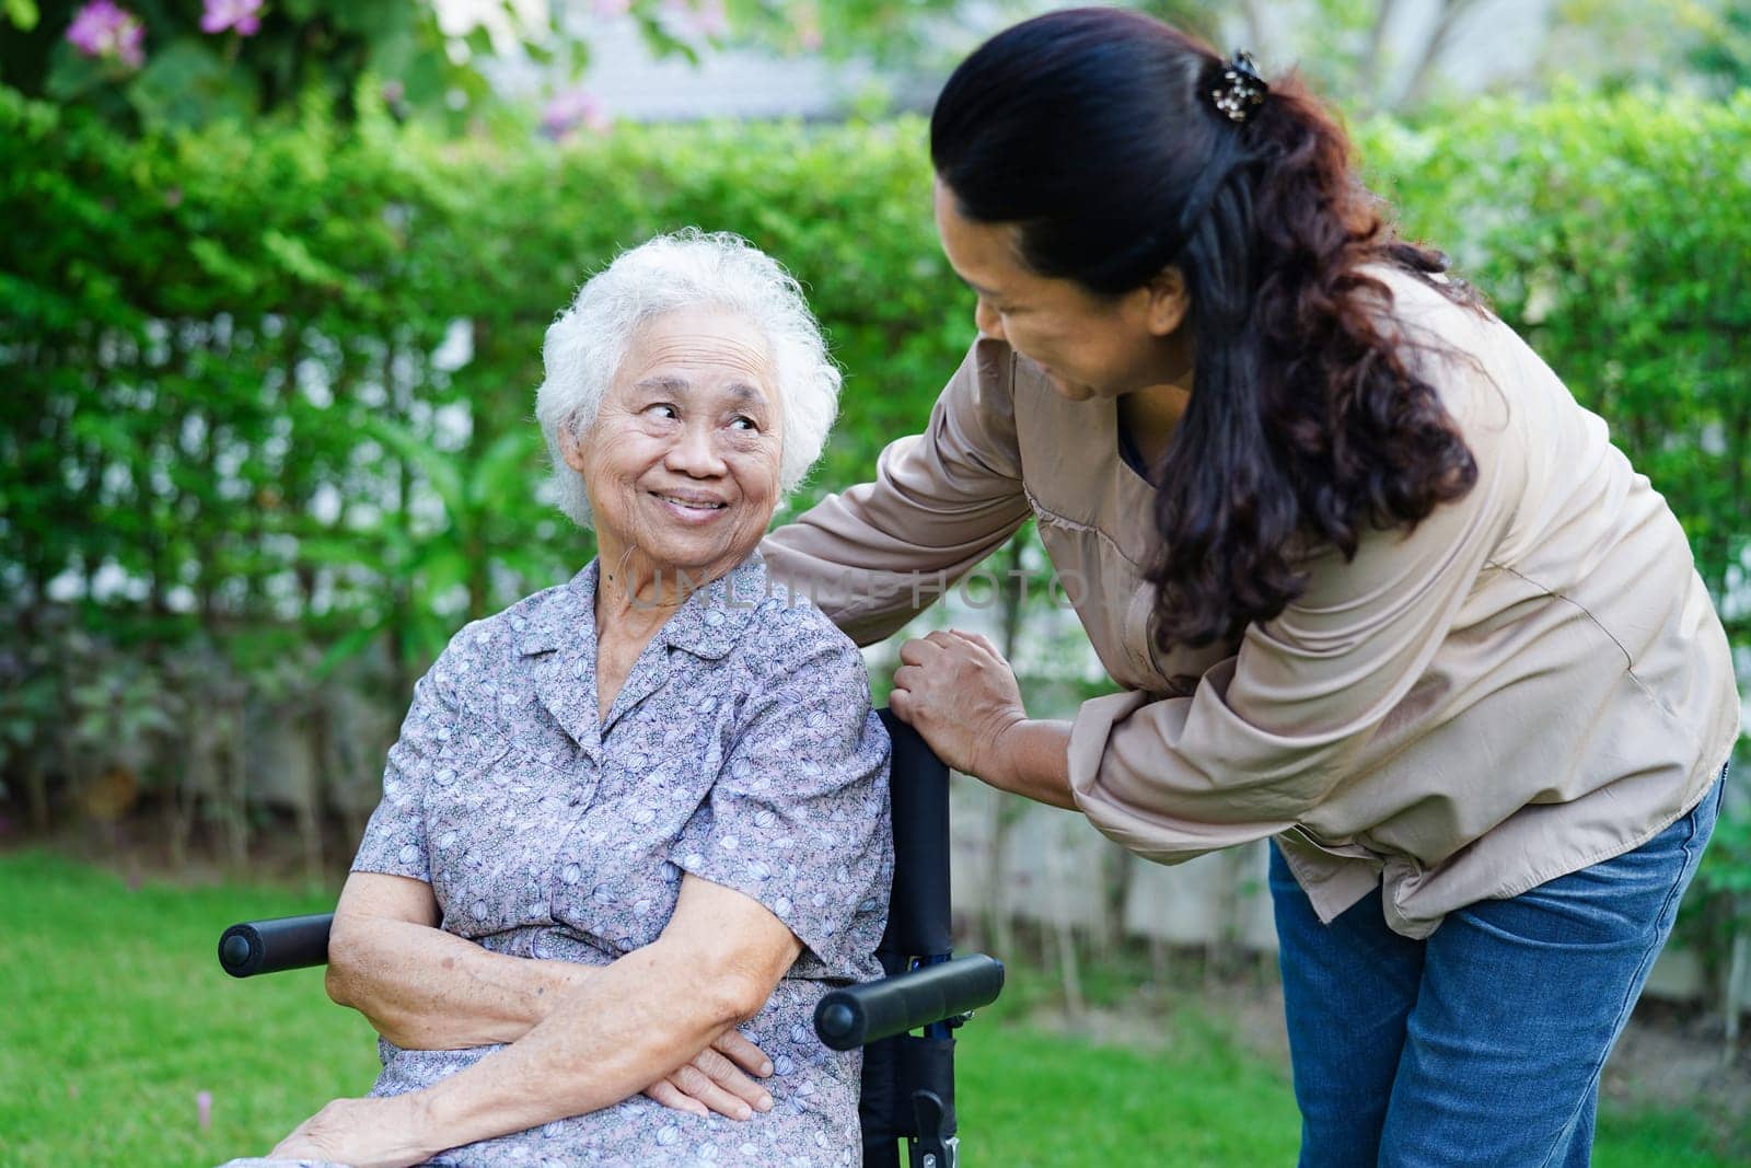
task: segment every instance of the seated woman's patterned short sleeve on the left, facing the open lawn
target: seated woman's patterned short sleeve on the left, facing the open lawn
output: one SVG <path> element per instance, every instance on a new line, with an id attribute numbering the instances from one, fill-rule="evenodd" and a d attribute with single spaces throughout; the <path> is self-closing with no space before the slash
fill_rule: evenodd
<path id="1" fill-rule="evenodd" d="M 383 799 L 364 825 L 359 855 L 352 860 L 354 872 L 410 876 L 427 884 L 432 879 L 425 846 L 425 785 L 455 723 L 455 704 L 443 693 L 443 664 L 445 657 L 440 657 L 431 672 L 413 685 L 413 704 L 383 767 Z"/>

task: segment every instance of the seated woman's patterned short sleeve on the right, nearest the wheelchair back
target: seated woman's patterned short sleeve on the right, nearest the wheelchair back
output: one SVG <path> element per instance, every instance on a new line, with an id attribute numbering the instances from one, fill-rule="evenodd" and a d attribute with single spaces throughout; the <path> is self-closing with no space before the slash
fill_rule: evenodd
<path id="1" fill-rule="evenodd" d="M 758 900 L 825 968 L 860 979 L 881 940 L 893 881 L 888 732 L 863 658 L 819 629 L 774 653 L 725 763 L 671 849 L 685 872 Z"/>

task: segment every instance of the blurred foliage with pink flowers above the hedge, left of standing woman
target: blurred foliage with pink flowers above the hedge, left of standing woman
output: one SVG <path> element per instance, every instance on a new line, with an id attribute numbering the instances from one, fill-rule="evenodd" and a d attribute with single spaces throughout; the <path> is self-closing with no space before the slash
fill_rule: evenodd
<path id="1" fill-rule="evenodd" d="M 482 65 L 576 81 L 592 30 L 627 18 L 655 54 L 732 44 L 781 53 L 930 56 L 960 0 L 0 0 L 0 82 L 124 128 L 254 117 L 312 98 L 357 112 L 371 79 L 396 117 L 452 130 L 492 117 Z M 1023 7 L 1016 4 L 996 7 Z M 72 35 L 68 35 L 72 33 Z"/>

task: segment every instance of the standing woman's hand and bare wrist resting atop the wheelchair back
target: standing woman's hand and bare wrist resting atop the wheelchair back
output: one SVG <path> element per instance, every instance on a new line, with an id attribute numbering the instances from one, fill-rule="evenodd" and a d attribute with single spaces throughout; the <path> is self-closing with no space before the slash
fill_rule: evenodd
<path id="1" fill-rule="evenodd" d="M 1003 653 L 977 632 L 932 632 L 900 646 L 888 706 L 937 758 L 1054 807 L 1070 793 L 1070 723 L 1033 721 Z"/>

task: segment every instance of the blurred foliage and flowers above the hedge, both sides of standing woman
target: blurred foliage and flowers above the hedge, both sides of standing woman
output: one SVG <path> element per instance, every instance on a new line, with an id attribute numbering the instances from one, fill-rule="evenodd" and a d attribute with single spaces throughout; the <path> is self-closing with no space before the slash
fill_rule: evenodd
<path id="1" fill-rule="evenodd" d="M 1495 7 L 1492 9 L 1492 4 Z M 289 112 L 340 117 L 369 82 L 397 119 L 457 131 L 503 112 L 504 67 L 546 96 L 587 93 L 592 51 L 632 21 L 655 56 L 723 49 L 860 60 L 940 79 L 995 28 L 1047 0 L 0 0 L 0 84 L 112 124 L 191 126 Z M 1220 49 L 1296 67 L 1352 114 L 1418 114 L 1466 91 L 1448 68 L 1497 0 L 1133 0 Z M 1488 88 L 1543 96 L 1567 79 L 1723 96 L 1751 79 L 1744 0 L 1536 0 L 1530 54 Z M 876 86 L 877 95 L 883 86 Z M 890 95 L 895 96 L 895 95 Z"/>

